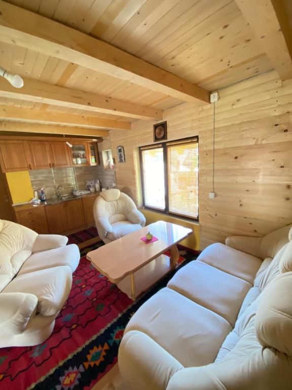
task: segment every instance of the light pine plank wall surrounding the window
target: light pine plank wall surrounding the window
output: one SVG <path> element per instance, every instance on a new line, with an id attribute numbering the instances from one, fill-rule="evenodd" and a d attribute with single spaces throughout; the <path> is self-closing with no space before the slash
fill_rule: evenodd
<path id="1" fill-rule="evenodd" d="M 220 92 L 216 105 L 215 191 L 212 190 L 212 108 L 182 104 L 164 112 L 168 140 L 199 135 L 201 248 L 229 235 L 261 236 L 292 222 L 292 80 L 275 72 Z M 135 121 L 131 132 L 111 131 L 126 163 L 117 183 L 137 201 L 133 154 L 153 143 L 152 121 Z"/>

